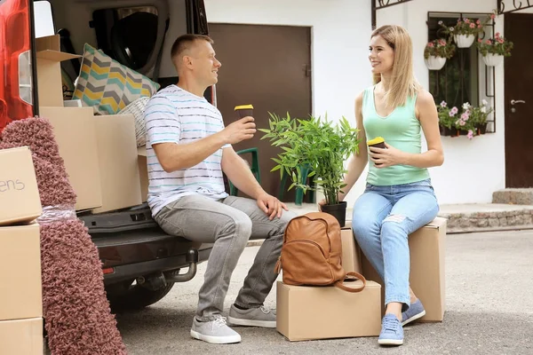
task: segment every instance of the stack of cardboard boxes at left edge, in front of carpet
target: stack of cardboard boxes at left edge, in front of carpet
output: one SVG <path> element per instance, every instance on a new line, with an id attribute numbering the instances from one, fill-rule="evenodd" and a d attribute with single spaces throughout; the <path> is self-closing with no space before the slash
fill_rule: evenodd
<path id="1" fill-rule="evenodd" d="M 28 147 L 0 150 L 0 354 L 43 354 L 41 201 Z"/>

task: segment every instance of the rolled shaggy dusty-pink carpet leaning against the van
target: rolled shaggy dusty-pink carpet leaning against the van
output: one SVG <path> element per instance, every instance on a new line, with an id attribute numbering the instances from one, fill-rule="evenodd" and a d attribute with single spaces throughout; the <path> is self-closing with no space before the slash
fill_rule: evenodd
<path id="1" fill-rule="evenodd" d="M 52 355 L 126 354 L 103 283 L 98 249 L 74 212 L 52 125 L 44 118 L 9 123 L 0 149 L 29 146 L 43 205 L 41 267 L 44 324 Z"/>

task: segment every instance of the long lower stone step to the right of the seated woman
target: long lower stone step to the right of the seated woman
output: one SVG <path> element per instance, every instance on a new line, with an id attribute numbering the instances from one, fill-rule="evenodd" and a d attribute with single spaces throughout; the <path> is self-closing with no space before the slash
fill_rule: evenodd
<path id="1" fill-rule="evenodd" d="M 448 218 L 449 233 L 533 228 L 533 206 L 527 205 L 442 205 L 439 216 Z"/>

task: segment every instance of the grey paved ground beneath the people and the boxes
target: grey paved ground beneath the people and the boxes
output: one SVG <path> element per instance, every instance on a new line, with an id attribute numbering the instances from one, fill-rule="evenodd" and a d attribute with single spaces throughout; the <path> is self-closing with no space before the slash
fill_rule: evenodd
<path id="1" fill-rule="evenodd" d="M 227 307 L 258 247 L 246 248 Z M 532 354 L 533 232 L 452 234 L 446 250 L 448 311 L 444 322 L 406 327 L 405 344 L 380 349 L 377 338 L 290 343 L 274 329 L 236 328 L 243 342 L 211 345 L 189 337 L 205 265 L 161 302 L 117 316 L 130 354 Z M 267 298 L 274 307 L 275 291 Z M 315 312 L 309 310 L 309 312 Z"/>

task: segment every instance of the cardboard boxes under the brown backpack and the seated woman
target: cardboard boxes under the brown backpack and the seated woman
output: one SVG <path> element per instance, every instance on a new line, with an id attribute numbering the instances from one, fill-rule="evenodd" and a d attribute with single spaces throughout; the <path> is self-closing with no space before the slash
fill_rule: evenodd
<path id="1" fill-rule="evenodd" d="M 444 317 L 445 237 L 446 220 L 437 217 L 409 238 L 410 286 L 426 308 L 421 321 Z M 383 280 L 355 243 L 350 223 L 341 238 L 344 269 L 362 273 L 367 286 L 360 293 L 348 293 L 335 287 L 290 286 L 278 281 L 277 330 L 290 341 L 379 335 L 385 312 Z M 353 284 L 359 285 L 360 281 Z"/>

